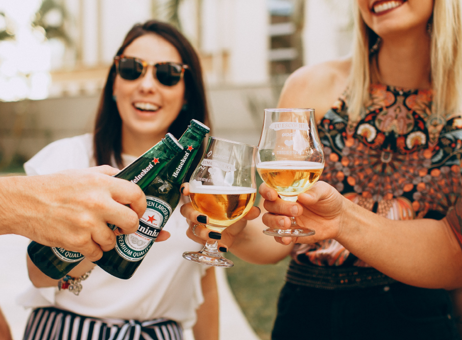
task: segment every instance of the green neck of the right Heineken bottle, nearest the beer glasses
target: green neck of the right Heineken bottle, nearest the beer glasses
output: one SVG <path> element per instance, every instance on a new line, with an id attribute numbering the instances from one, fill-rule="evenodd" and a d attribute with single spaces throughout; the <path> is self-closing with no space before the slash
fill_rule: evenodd
<path id="1" fill-rule="evenodd" d="M 195 129 L 188 127 L 186 132 L 178 140 L 183 145 L 184 150 L 175 155 L 166 166 L 166 173 L 169 180 L 175 184 L 183 183 L 183 180 L 192 164 L 194 156 L 201 147 L 204 135 L 198 133 Z"/>

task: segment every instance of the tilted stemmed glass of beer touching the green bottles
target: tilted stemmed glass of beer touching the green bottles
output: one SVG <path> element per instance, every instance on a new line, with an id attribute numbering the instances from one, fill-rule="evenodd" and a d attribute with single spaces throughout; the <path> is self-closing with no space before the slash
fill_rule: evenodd
<path id="1" fill-rule="evenodd" d="M 222 232 L 252 208 L 255 184 L 256 147 L 209 137 L 201 162 L 189 181 L 189 198 L 194 209 L 209 217 L 208 229 Z M 218 242 L 207 241 L 200 252 L 185 252 L 190 261 L 220 267 L 234 263 L 217 251 Z"/>

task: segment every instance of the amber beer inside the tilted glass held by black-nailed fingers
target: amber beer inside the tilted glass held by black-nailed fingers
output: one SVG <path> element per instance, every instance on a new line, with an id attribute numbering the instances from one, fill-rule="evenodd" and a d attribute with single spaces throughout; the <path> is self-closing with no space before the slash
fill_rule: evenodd
<path id="1" fill-rule="evenodd" d="M 209 217 L 207 228 L 223 231 L 252 208 L 257 190 L 249 187 L 203 185 L 190 186 L 192 206 Z"/>

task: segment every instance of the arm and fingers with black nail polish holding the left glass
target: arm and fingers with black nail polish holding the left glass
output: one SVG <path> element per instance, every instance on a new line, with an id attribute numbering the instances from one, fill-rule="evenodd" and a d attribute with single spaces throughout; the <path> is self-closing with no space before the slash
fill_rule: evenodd
<path id="1" fill-rule="evenodd" d="M 183 187 L 183 195 L 189 195 L 188 183 L 184 183 Z M 201 244 L 212 240 L 208 236 L 212 230 L 207 229 L 197 220 L 200 213 L 194 210 L 191 203 L 182 205 L 180 211 L 189 224 L 186 235 L 190 239 Z M 252 207 L 246 216 L 227 227 L 222 232 L 221 239 L 218 240 L 218 249 L 226 248 L 241 259 L 256 264 L 276 263 L 285 258 L 293 245 L 278 244 L 272 237 L 264 235 L 262 230 L 265 226 L 261 223 L 260 218 L 257 218 L 259 215 L 260 208 Z M 198 226 L 194 230 L 196 233 L 194 235 L 192 227 L 196 224 Z"/>

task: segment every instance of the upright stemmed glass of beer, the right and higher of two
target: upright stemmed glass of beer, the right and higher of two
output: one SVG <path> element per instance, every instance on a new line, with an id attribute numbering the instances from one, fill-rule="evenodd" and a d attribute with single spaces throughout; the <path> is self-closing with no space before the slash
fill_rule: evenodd
<path id="1" fill-rule="evenodd" d="M 321 176 L 324 152 L 319 140 L 313 109 L 265 109 L 256 155 L 258 174 L 285 201 L 297 201 Z M 290 229 L 267 228 L 271 236 L 310 236 L 291 218 Z"/>

